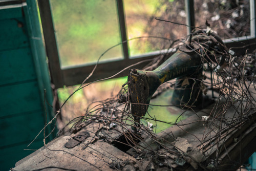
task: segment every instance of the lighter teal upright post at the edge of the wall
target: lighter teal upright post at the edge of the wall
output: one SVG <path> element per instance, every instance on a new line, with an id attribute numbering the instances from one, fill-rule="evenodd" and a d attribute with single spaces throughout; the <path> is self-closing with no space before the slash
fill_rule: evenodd
<path id="1" fill-rule="evenodd" d="M 28 27 L 31 54 L 35 68 L 34 72 L 37 77 L 37 88 L 40 92 L 41 101 L 43 102 L 44 98 L 46 97 L 47 102 L 52 104 L 53 92 L 51 87 L 51 78 L 47 63 L 45 46 L 42 41 L 41 26 L 39 23 L 37 8 L 37 1 L 27 1 L 27 5 L 24 5 L 23 11 Z M 55 115 L 50 105 L 46 106 L 46 111 L 48 113 L 49 119 Z M 48 128 L 51 131 L 53 129 L 53 124 Z M 54 133 L 49 138 L 53 139 L 55 137 L 54 134 L 57 134 L 57 129 L 55 129 Z"/>

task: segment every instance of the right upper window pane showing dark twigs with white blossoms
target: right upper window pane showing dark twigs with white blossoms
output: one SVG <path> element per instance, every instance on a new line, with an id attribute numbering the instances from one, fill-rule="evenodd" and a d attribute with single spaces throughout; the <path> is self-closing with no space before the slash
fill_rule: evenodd
<path id="1" fill-rule="evenodd" d="M 195 0 L 195 24 L 205 28 L 205 21 L 210 28 L 223 38 L 250 35 L 250 2 Z"/>

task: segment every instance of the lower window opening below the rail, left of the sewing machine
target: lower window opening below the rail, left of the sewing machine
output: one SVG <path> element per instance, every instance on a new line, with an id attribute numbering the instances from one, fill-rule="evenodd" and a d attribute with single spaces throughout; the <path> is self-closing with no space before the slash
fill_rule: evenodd
<path id="1" fill-rule="evenodd" d="M 126 81 L 127 76 L 94 82 L 77 92 L 75 91 L 80 85 L 58 89 L 60 105 L 62 105 L 67 98 L 75 92 L 61 109 L 62 126 L 66 125 L 76 117 L 84 116 L 86 109 L 92 102 L 93 104 L 90 106 L 90 109 L 101 104 L 101 100 L 115 98 Z M 63 128 L 61 124 L 58 124 L 58 126 L 59 130 Z"/>

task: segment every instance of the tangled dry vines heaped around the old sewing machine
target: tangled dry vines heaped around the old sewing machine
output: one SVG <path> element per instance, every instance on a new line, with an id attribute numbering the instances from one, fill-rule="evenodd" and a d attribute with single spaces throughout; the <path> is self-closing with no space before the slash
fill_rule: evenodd
<path id="1" fill-rule="evenodd" d="M 172 49 L 178 49 L 184 44 L 193 43 L 194 47 L 199 47 L 194 51 L 201 56 L 202 63 L 204 63 L 202 65 L 203 75 L 199 79 L 201 91 L 215 101 L 210 105 L 210 108 L 207 108 L 207 114 L 202 111 L 201 113 L 204 114 L 200 114 L 200 111 L 189 106 L 184 108 L 183 105 L 180 116 L 189 113 L 189 116 L 192 114 L 196 119 L 189 122 L 178 122 L 178 119 L 176 122 L 169 122 L 152 116 L 150 118 L 142 117 L 142 119 L 149 121 L 147 124 L 134 125 L 133 116 L 130 112 L 129 85 L 124 84 L 115 98 L 106 99 L 100 103 L 99 101 L 91 103 L 84 116 L 70 121 L 66 127 L 59 131 L 59 135 L 75 134 L 87 125 L 97 123 L 100 126 L 94 132 L 93 138 L 110 142 L 116 146 L 122 144 L 125 146 L 123 150 L 127 153 L 130 151 L 129 153 L 137 159 L 150 161 L 151 164 L 147 166 L 149 169 L 156 168 L 156 166 L 178 168 L 178 166 L 184 167 L 188 163 L 194 169 L 197 169 L 198 166 L 202 169 L 221 167 L 222 161 L 220 159 L 225 159 L 223 153 L 228 151 L 227 147 L 231 144 L 228 140 L 232 135 L 238 134 L 233 133 L 234 130 L 243 130 L 233 139 L 233 141 L 242 142 L 242 133 L 247 133 L 246 129 L 255 120 L 253 114 L 256 109 L 254 82 L 256 51 L 250 53 L 246 51 L 245 55 L 238 56 L 232 48 L 227 49 L 220 42 L 221 40 L 211 37 L 209 32 L 210 30 L 197 29 L 196 33 L 199 36 L 194 38 L 188 36 L 176 40 L 170 46 Z M 215 44 L 218 46 L 214 49 L 207 49 L 208 41 L 202 43 L 200 40 L 205 37 L 217 41 Z M 170 54 L 163 54 L 155 58 L 145 67 L 145 70 L 156 69 L 168 56 Z M 189 79 L 195 80 L 196 78 Z M 174 86 L 173 80 L 162 84 L 152 98 L 159 96 L 166 89 L 174 89 Z M 209 94 L 209 91 L 212 93 Z M 121 99 L 121 104 L 118 103 L 118 99 L 119 102 Z M 149 104 L 149 106 L 151 105 L 153 104 Z M 231 115 L 228 112 L 230 109 Z M 148 114 L 150 115 L 150 113 Z M 169 124 L 169 126 L 176 126 L 184 134 L 190 134 L 190 138 L 197 139 L 198 143 L 193 145 L 190 142 L 191 139 L 183 139 L 181 134 L 168 132 L 168 129 L 156 134 L 151 124 L 156 121 Z M 203 123 L 204 125 L 200 135 L 185 129 L 195 123 Z M 70 125 L 72 125 L 71 128 Z M 212 152 L 211 149 L 215 149 L 215 151 Z"/>

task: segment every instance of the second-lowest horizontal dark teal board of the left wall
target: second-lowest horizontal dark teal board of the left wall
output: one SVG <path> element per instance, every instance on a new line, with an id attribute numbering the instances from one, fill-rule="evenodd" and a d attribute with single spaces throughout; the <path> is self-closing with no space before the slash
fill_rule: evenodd
<path id="1" fill-rule="evenodd" d="M 20 142 L 30 143 L 44 128 L 44 114 L 41 111 L 0 119 L 0 148 Z M 42 140 L 43 134 L 38 137 Z"/>

